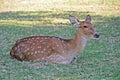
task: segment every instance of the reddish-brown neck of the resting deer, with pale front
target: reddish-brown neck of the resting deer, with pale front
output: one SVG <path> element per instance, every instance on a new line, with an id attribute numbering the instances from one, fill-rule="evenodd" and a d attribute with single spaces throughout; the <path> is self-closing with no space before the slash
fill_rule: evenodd
<path id="1" fill-rule="evenodd" d="M 73 39 L 71 39 L 71 50 L 76 53 L 80 53 L 84 49 L 86 41 L 86 37 L 82 34 L 80 30 L 78 30 Z"/>

